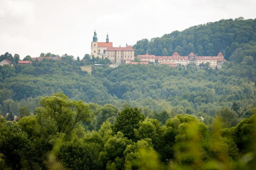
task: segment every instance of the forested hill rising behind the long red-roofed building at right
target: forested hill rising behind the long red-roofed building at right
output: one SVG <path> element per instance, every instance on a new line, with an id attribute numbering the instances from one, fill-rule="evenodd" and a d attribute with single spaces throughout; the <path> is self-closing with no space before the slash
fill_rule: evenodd
<path id="1" fill-rule="evenodd" d="M 256 41 L 256 19 L 244 20 L 240 17 L 173 31 L 160 38 L 142 39 L 133 48 L 136 55 L 148 51 L 149 54 L 163 56 L 172 55 L 175 51 L 180 55 L 193 52 L 197 55 L 216 56 L 221 51 L 228 60 L 236 48 L 250 41 Z"/>

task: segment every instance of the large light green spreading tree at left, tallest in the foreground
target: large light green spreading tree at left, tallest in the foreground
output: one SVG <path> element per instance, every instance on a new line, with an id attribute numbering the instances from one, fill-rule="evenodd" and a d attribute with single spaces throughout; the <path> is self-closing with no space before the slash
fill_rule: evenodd
<path id="1" fill-rule="evenodd" d="M 56 132 L 70 134 L 81 122 L 90 122 L 93 118 L 89 106 L 82 100 L 70 100 L 61 92 L 44 97 L 35 109 L 38 124 L 45 137 Z"/>

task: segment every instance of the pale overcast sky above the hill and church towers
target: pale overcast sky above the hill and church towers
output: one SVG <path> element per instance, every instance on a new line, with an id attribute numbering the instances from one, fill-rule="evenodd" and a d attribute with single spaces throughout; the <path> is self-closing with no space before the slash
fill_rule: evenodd
<path id="1" fill-rule="evenodd" d="M 114 47 L 221 19 L 256 18 L 256 0 L 0 0 L 0 55 L 90 54 L 94 30 Z"/>

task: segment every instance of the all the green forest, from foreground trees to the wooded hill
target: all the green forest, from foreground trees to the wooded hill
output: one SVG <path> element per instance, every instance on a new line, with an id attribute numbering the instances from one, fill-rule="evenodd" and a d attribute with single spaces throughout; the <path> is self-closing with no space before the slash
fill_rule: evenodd
<path id="1" fill-rule="evenodd" d="M 134 45 L 137 54 L 187 55 L 191 44 L 198 55 L 222 51 L 222 69 L 152 64 L 88 73 L 72 55 L 17 65 L 18 54 L 2 54 L 14 66 L 0 66 L 0 169 L 253 169 L 255 33 L 255 19 L 238 18 Z"/>

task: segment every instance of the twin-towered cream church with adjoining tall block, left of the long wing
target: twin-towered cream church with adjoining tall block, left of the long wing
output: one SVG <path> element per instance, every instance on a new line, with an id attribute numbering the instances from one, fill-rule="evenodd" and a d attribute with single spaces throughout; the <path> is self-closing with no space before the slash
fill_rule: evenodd
<path id="1" fill-rule="evenodd" d="M 97 33 L 94 31 L 93 41 L 91 42 L 90 57 L 108 58 L 112 63 L 121 64 L 126 61 L 134 60 L 134 49 L 131 46 L 113 47 L 109 42 L 109 35 L 106 35 L 106 42 L 98 42 Z"/>

